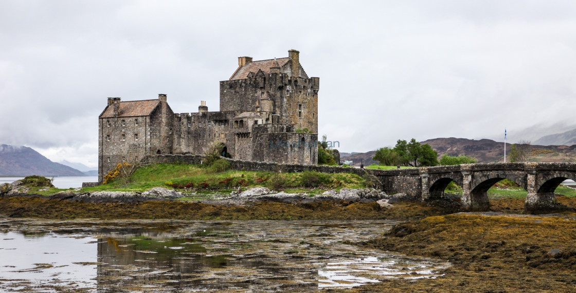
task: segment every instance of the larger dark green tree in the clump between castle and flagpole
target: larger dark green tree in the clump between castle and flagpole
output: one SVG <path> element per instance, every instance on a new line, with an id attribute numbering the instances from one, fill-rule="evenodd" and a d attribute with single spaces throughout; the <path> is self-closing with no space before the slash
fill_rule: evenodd
<path id="1" fill-rule="evenodd" d="M 409 143 L 406 140 L 397 140 L 394 150 L 400 155 L 400 162 L 403 165 L 413 167 L 438 165 L 438 153 L 430 144 L 420 144 L 414 138 Z"/>

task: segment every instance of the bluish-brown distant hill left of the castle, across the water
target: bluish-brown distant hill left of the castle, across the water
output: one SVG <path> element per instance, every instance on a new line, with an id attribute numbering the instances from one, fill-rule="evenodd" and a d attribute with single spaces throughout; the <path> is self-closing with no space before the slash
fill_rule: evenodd
<path id="1" fill-rule="evenodd" d="M 50 161 L 24 146 L 0 144 L 0 176 L 85 176 L 84 173 Z"/>

